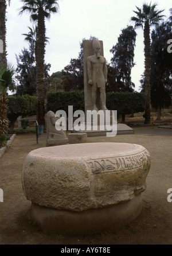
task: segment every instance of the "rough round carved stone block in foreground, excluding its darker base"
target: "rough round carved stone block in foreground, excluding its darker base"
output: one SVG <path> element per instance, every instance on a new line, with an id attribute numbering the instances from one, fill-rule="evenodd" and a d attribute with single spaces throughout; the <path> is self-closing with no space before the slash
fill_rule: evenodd
<path id="1" fill-rule="evenodd" d="M 84 211 L 131 200 L 146 189 L 150 154 L 129 143 L 79 143 L 33 150 L 22 169 L 34 204 Z"/>

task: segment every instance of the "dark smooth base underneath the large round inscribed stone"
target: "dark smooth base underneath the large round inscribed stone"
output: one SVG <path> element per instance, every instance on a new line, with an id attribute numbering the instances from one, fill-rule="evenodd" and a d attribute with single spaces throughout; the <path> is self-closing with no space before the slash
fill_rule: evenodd
<path id="1" fill-rule="evenodd" d="M 142 196 L 130 201 L 82 212 L 57 210 L 32 203 L 32 218 L 44 233 L 95 234 L 126 226 L 142 212 Z"/>

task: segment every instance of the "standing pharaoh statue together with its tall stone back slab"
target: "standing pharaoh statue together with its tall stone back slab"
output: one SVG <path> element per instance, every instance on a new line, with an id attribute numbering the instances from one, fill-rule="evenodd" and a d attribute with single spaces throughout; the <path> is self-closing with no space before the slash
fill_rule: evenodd
<path id="1" fill-rule="evenodd" d="M 103 56 L 103 41 L 96 38 L 83 41 L 84 99 L 87 110 L 107 110 L 105 84 L 107 65 Z"/>

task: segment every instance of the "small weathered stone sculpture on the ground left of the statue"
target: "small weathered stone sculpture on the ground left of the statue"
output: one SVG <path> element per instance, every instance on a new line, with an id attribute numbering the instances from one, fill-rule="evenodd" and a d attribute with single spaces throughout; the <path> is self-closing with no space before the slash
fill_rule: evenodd
<path id="1" fill-rule="evenodd" d="M 64 130 L 57 131 L 55 124 L 58 118 L 53 111 L 46 114 L 46 146 L 57 146 L 68 143 L 68 138 Z"/>

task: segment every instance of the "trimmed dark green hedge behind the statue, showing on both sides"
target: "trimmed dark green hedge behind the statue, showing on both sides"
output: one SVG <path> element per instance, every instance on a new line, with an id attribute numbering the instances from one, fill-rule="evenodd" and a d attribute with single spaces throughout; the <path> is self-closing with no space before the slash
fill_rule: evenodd
<path id="1" fill-rule="evenodd" d="M 117 110 L 118 114 L 134 114 L 144 111 L 145 95 L 139 92 L 107 92 L 106 102 L 108 110 Z M 84 111 L 84 91 L 56 92 L 47 95 L 46 111 L 64 110 L 68 113 L 68 106 Z"/>

